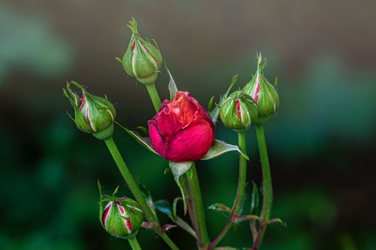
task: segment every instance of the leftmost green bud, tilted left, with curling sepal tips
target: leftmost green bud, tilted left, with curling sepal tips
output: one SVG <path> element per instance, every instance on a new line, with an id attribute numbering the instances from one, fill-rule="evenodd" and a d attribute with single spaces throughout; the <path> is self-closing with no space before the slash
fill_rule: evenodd
<path id="1" fill-rule="evenodd" d="M 82 92 L 82 98 L 79 98 L 76 92 L 73 92 L 67 82 L 67 91 L 64 90 L 65 96 L 70 99 L 74 108 L 74 122 L 76 122 L 77 128 L 85 133 L 92 133 L 98 139 L 107 139 L 112 136 L 114 131 L 114 120 L 116 117 L 116 111 L 114 106 L 105 98 L 90 95 L 86 90 L 73 82 L 74 85 L 79 87 Z"/>

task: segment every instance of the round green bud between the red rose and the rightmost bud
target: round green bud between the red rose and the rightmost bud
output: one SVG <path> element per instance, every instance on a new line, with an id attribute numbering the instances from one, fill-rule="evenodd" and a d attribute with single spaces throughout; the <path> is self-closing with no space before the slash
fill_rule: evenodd
<path id="1" fill-rule="evenodd" d="M 241 133 L 247 131 L 257 119 L 256 102 L 242 91 L 235 91 L 224 100 L 219 114 L 227 128 Z"/>

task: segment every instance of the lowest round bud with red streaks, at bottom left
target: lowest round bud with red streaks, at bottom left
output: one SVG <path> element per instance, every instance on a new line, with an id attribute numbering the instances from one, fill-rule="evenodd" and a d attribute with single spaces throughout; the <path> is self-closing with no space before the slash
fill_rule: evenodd
<path id="1" fill-rule="evenodd" d="M 106 231 L 115 237 L 130 239 L 136 236 L 144 221 L 141 206 L 130 198 L 109 201 L 102 214 L 102 222 Z"/>

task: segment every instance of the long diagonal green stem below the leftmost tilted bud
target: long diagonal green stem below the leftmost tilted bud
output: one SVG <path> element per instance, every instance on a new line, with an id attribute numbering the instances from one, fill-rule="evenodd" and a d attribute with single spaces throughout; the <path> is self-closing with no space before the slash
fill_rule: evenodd
<path id="1" fill-rule="evenodd" d="M 120 155 L 119 150 L 117 149 L 112 136 L 108 139 L 104 140 L 106 145 L 111 152 L 112 157 L 115 160 L 116 165 L 118 166 L 121 175 L 123 175 L 124 180 L 128 184 L 130 191 L 132 192 L 133 196 L 136 198 L 137 202 L 143 207 L 144 214 L 146 215 L 147 220 L 150 223 L 154 223 L 153 229 L 158 235 L 167 243 L 167 245 L 173 250 L 179 250 L 176 245 L 171 241 L 171 239 L 164 233 L 162 233 L 161 226 L 159 226 L 158 218 L 147 205 L 145 198 L 139 191 L 135 180 L 133 179 L 132 175 L 130 174 L 127 165 L 125 164 L 123 158 Z"/>

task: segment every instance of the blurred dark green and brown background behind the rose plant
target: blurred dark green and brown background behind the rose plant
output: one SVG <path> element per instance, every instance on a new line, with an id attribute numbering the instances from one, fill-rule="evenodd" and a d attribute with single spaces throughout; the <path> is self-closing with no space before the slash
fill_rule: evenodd
<path id="1" fill-rule="evenodd" d="M 98 220 L 100 179 L 105 192 L 130 191 L 105 143 L 81 133 L 69 118 L 66 81 L 111 99 L 116 120 L 147 127 L 154 110 L 146 87 L 128 77 L 115 56 L 130 40 L 131 17 L 154 38 L 180 90 L 203 107 L 233 90 L 267 58 L 265 76 L 278 76 L 280 105 L 265 124 L 273 181 L 274 218 L 262 250 L 376 249 L 376 18 L 374 1 L 324 0 L 2 0 L 0 2 L 0 245 L 2 249 L 130 249 Z M 156 82 L 169 96 L 164 67 Z M 77 89 L 78 91 L 78 89 Z M 247 181 L 261 186 L 255 128 L 247 136 Z M 236 144 L 218 123 L 216 138 Z M 153 199 L 172 203 L 179 189 L 168 162 L 115 126 L 115 143 Z M 205 206 L 232 206 L 238 155 L 196 163 Z M 247 186 L 243 214 L 250 207 Z M 178 205 L 181 215 L 182 204 Z M 213 240 L 226 214 L 206 210 Z M 161 223 L 171 223 L 159 214 Z M 174 228 L 180 249 L 194 239 Z M 167 249 L 141 229 L 143 249 Z M 244 222 L 220 245 L 250 247 Z"/>

